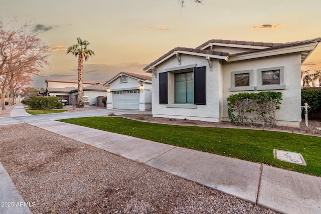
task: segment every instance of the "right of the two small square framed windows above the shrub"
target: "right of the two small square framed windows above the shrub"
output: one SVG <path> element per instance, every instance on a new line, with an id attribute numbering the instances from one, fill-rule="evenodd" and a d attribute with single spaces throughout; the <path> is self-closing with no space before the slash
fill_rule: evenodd
<path id="1" fill-rule="evenodd" d="M 257 87 L 259 90 L 285 89 L 284 66 L 262 68 L 257 70 Z"/>

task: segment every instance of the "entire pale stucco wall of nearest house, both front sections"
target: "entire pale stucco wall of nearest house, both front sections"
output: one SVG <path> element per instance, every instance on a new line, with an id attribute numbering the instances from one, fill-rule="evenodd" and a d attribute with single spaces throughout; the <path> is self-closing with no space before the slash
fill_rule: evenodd
<path id="1" fill-rule="evenodd" d="M 231 92 L 231 72 L 254 70 L 253 85 L 257 86 L 258 69 L 283 66 L 286 89 L 271 90 L 283 93 L 281 109 L 277 112 L 276 118 L 279 125 L 298 127 L 301 121 L 300 59 L 299 53 L 229 63 L 213 59 L 213 71 L 210 71 L 205 57 L 181 55 L 181 65 L 176 57 L 172 57 L 156 67 L 157 78 L 152 74 L 152 114 L 156 117 L 187 118 L 211 122 L 229 121 L 226 101 L 229 95 L 241 92 L 260 92 L 257 90 Z M 159 104 L 159 73 L 166 72 L 168 68 L 192 64 L 197 64 L 196 67 L 206 66 L 206 105 L 196 105 L 196 108 L 169 108 L 165 104 Z M 169 72 L 169 104 L 174 103 L 173 76 Z"/>

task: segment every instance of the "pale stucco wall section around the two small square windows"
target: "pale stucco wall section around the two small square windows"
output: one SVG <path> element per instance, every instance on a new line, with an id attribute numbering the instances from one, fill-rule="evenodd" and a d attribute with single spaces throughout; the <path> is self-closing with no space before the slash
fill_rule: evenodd
<path id="1" fill-rule="evenodd" d="M 281 109 L 277 111 L 276 118 L 279 125 L 298 127 L 301 121 L 301 87 L 300 87 L 300 54 L 290 54 L 283 56 L 274 56 L 259 58 L 254 60 L 244 60 L 238 62 L 223 64 L 223 120 L 228 121 L 227 101 L 226 98 L 231 94 L 241 92 L 261 92 L 261 91 L 230 91 L 231 87 L 231 72 L 243 71 L 253 69 L 253 85 L 258 85 L 257 76 L 259 73 L 257 69 L 271 68 L 284 66 L 284 83 L 286 89 L 284 90 L 269 90 L 282 92 L 283 100 L 281 101 Z"/>

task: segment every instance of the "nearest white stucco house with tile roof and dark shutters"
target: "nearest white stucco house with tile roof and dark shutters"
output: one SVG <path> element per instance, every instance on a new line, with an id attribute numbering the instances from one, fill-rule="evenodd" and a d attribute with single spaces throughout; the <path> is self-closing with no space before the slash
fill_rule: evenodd
<path id="1" fill-rule="evenodd" d="M 299 127 L 301 64 L 319 42 L 210 40 L 196 49 L 175 48 L 143 69 L 152 74 L 152 115 L 229 121 L 229 95 L 279 91 L 278 125 Z"/>

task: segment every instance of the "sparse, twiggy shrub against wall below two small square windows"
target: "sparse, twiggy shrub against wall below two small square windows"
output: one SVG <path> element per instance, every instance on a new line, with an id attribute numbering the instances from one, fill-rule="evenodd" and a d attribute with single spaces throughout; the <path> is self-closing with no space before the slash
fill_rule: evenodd
<path id="1" fill-rule="evenodd" d="M 232 123 L 263 126 L 276 126 L 275 112 L 280 109 L 281 92 L 239 93 L 227 98 L 228 117 Z"/>

